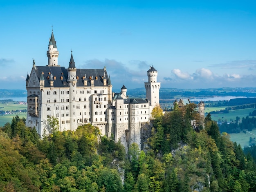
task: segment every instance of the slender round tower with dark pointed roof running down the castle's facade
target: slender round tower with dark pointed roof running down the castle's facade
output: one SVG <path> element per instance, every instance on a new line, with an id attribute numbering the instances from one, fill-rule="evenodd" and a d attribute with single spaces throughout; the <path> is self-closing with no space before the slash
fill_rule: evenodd
<path id="1" fill-rule="evenodd" d="M 67 68 L 67 83 L 70 85 L 70 130 L 74 131 L 77 128 L 76 121 L 76 66 L 71 51 L 70 63 Z"/>

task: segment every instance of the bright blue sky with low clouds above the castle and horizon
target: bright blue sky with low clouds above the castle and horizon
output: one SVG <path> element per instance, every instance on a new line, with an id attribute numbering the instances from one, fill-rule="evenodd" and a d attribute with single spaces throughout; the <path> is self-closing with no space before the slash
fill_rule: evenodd
<path id="1" fill-rule="evenodd" d="M 0 0 L 0 89 L 26 89 L 33 58 L 48 64 L 54 31 L 58 65 L 106 66 L 113 89 L 256 87 L 256 1 Z M 53 26 L 53 27 L 52 27 Z"/>

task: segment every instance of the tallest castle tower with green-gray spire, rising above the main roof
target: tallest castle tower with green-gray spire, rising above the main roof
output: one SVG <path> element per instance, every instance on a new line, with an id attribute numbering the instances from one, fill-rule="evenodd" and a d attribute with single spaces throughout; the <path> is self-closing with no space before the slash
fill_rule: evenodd
<path id="1" fill-rule="evenodd" d="M 48 66 L 55 66 L 55 67 L 59 66 L 58 65 L 58 49 L 57 49 L 56 41 L 53 35 L 53 30 L 52 30 L 52 36 L 51 38 L 49 38 L 47 57 L 48 57 Z"/>

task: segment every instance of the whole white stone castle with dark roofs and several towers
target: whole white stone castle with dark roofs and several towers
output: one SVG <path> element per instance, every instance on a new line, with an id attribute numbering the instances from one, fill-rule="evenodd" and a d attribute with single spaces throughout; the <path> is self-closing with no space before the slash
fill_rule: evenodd
<path id="1" fill-rule="evenodd" d="M 60 131 L 76 130 L 90 123 L 102 135 L 114 135 L 115 141 L 127 147 L 141 145 L 140 129 L 149 122 L 150 114 L 159 104 L 160 83 L 157 70 L 150 67 L 145 83 L 146 99 L 128 98 L 125 86 L 120 93 L 112 92 L 110 76 L 103 69 L 77 69 L 71 51 L 67 69 L 58 65 L 58 49 L 52 31 L 47 51 L 48 65 L 33 67 L 27 74 L 27 127 L 36 127 L 42 137 L 45 121 L 56 117 Z"/>

